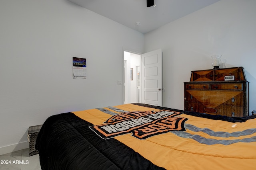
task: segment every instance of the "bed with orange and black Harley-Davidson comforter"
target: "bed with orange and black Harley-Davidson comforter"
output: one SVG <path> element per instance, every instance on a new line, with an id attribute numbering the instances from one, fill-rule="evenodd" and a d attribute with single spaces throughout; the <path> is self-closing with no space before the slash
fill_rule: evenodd
<path id="1" fill-rule="evenodd" d="M 139 103 L 74 111 L 46 119 L 36 149 L 42 170 L 252 170 L 255 117 Z"/>

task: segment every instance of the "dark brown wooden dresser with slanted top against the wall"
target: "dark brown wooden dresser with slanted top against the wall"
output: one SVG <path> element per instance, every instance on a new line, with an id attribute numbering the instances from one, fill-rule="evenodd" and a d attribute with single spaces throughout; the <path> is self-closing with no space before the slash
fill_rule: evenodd
<path id="1" fill-rule="evenodd" d="M 184 82 L 184 110 L 248 116 L 248 90 L 243 67 L 192 71 L 190 82 Z"/>

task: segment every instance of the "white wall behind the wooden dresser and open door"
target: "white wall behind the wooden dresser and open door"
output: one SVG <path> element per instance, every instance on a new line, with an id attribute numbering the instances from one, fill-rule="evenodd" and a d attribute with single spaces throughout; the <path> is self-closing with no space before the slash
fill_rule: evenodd
<path id="1" fill-rule="evenodd" d="M 163 105 L 184 109 L 184 84 L 192 70 L 212 69 L 211 55 L 226 67 L 243 66 L 256 110 L 256 1 L 221 0 L 145 34 L 145 52 L 162 48 Z"/>

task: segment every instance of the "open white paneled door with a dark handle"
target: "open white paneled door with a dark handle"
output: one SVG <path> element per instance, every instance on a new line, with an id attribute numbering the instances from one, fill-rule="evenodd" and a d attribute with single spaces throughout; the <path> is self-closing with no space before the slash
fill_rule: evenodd
<path id="1" fill-rule="evenodd" d="M 142 103 L 162 106 L 162 49 L 142 54 Z"/>

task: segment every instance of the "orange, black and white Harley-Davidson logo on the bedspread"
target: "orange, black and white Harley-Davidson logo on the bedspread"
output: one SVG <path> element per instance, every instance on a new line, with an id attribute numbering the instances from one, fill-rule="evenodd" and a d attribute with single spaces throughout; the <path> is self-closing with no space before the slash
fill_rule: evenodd
<path id="1" fill-rule="evenodd" d="M 185 131 L 187 118 L 177 117 L 177 111 L 133 111 L 120 113 L 110 117 L 104 124 L 91 126 L 96 134 L 103 139 L 132 133 L 138 139 L 167 133 L 169 131 Z"/>

